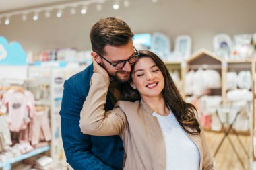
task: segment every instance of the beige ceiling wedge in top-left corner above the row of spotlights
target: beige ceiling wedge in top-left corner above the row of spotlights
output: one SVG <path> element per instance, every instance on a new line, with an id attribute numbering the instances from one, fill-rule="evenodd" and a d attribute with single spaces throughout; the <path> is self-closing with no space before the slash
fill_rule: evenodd
<path id="1" fill-rule="evenodd" d="M 29 9 L 32 7 L 42 7 L 58 3 L 71 2 L 73 0 L 1 0 L 0 13 L 15 11 L 18 9 Z"/>

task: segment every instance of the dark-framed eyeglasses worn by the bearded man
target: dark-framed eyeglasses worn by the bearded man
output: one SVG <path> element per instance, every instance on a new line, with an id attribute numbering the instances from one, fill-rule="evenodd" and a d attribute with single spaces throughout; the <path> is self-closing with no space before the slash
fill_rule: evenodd
<path id="1" fill-rule="evenodd" d="M 109 60 L 107 60 L 106 58 L 104 58 L 104 56 L 98 54 L 98 52 L 96 52 L 101 58 L 103 58 L 104 60 L 106 60 L 106 62 L 108 62 L 110 65 L 113 65 L 113 67 L 115 67 L 116 70 L 119 69 L 123 69 L 123 67 L 125 67 L 126 62 L 129 62 L 131 65 L 133 65 L 137 59 L 139 58 L 139 52 L 137 52 L 136 48 L 133 46 L 134 50 L 135 50 L 135 54 L 133 56 L 131 56 L 130 58 L 128 58 L 127 60 L 120 60 L 117 61 L 115 64 L 113 64 L 113 62 L 110 62 Z"/>

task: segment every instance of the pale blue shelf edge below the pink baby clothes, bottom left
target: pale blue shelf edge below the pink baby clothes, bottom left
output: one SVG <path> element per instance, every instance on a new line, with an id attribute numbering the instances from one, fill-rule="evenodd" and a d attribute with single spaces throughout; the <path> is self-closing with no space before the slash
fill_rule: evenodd
<path id="1" fill-rule="evenodd" d="M 44 146 L 42 148 L 36 148 L 33 151 L 31 151 L 30 153 L 19 155 L 18 157 L 14 157 L 14 158 L 9 159 L 8 161 L 0 163 L 0 168 L 11 169 L 11 164 L 12 163 L 16 163 L 18 161 L 22 161 L 22 160 L 27 159 L 29 157 L 32 157 L 34 155 L 38 155 L 40 153 L 44 153 L 46 151 L 49 151 L 49 149 L 50 149 L 50 146 Z"/>

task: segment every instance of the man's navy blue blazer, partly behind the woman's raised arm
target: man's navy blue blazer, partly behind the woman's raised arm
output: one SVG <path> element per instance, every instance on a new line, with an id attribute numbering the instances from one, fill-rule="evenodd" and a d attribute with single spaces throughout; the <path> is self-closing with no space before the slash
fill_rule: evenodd
<path id="1" fill-rule="evenodd" d="M 75 170 L 122 169 L 123 142 L 119 136 L 90 136 L 79 127 L 80 111 L 88 95 L 93 65 L 64 83 L 61 103 L 61 135 L 67 163 Z M 113 109 L 107 95 L 106 110 Z"/>

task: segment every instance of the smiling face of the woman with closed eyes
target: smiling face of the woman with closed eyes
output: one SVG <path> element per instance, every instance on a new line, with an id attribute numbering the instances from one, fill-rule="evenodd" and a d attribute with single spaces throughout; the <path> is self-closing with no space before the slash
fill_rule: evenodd
<path id="1" fill-rule="evenodd" d="M 131 87 L 136 88 L 141 97 L 158 97 L 164 89 L 164 76 L 150 57 L 139 58 L 131 73 Z"/>

